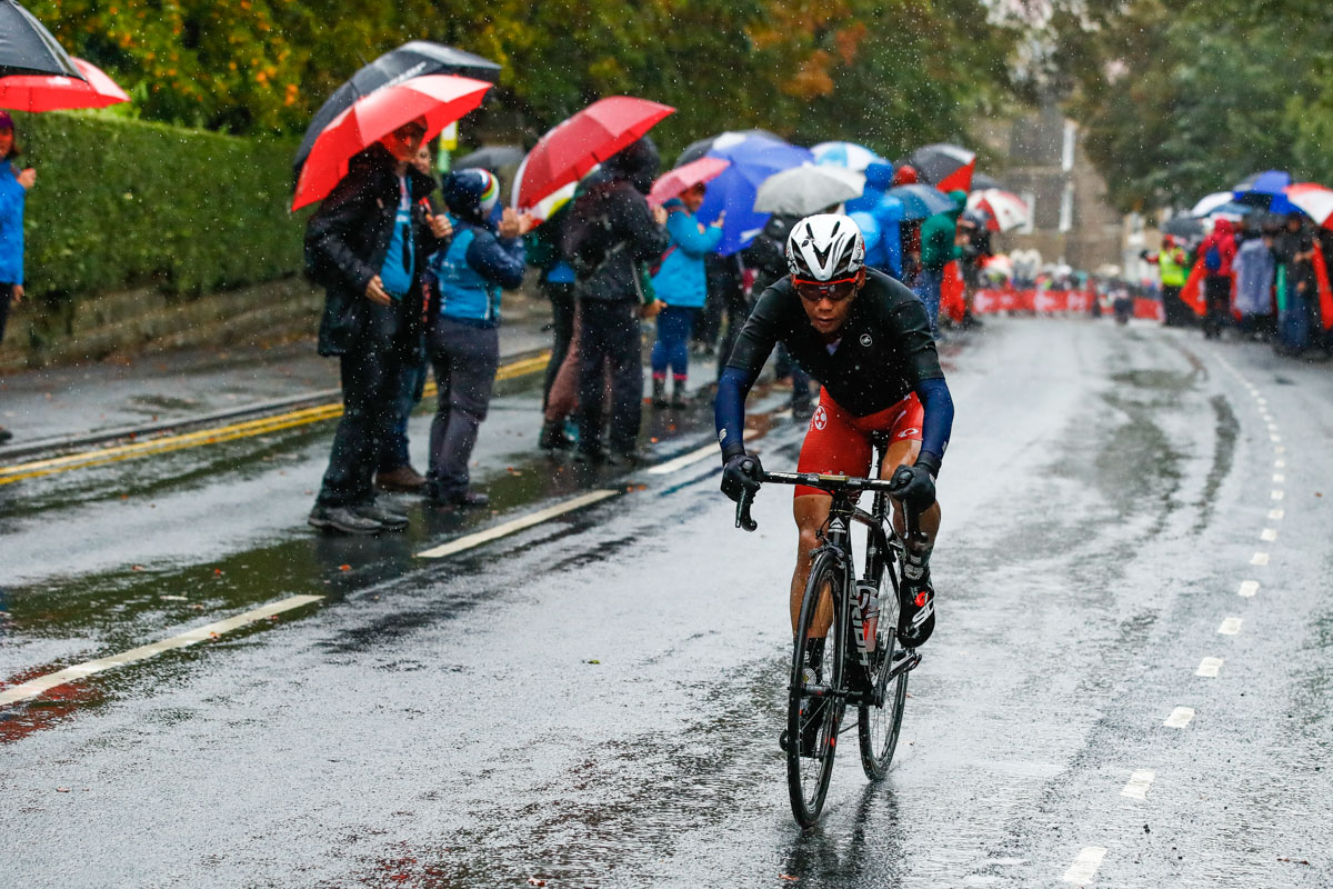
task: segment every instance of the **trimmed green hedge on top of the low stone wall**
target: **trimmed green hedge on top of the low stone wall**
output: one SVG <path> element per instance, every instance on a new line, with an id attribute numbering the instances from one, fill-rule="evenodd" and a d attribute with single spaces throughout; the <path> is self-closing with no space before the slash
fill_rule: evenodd
<path id="1" fill-rule="evenodd" d="M 37 169 L 28 289 L 81 295 L 157 284 L 201 293 L 301 268 L 296 141 L 239 139 L 105 115 L 15 115 Z"/>

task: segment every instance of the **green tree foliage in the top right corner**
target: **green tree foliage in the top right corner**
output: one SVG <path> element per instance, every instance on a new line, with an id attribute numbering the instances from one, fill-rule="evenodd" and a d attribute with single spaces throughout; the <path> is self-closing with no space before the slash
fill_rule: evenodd
<path id="1" fill-rule="evenodd" d="M 1333 17 L 1310 0 L 1065 0 L 1048 76 L 1122 209 L 1262 169 L 1333 184 Z"/>

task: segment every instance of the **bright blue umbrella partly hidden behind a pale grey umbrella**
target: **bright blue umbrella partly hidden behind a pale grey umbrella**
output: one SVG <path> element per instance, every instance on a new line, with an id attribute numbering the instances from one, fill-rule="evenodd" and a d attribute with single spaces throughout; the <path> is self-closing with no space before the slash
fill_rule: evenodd
<path id="1" fill-rule="evenodd" d="M 717 245 L 717 252 L 722 256 L 744 249 L 764 231 L 768 213 L 754 212 L 754 195 L 764 180 L 784 169 L 814 163 L 813 155 L 805 148 L 741 133 L 736 133 L 734 139 L 718 137 L 708 155 L 732 163 L 708 184 L 704 205 L 698 208 L 698 220 L 705 225 L 726 211 L 722 240 Z"/>

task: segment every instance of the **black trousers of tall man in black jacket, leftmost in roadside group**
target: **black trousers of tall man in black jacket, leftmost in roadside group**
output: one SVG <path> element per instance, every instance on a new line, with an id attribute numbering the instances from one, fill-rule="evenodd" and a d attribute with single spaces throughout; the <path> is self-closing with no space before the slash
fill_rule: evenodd
<path id="1" fill-rule="evenodd" d="M 412 353 L 411 325 L 401 303 L 367 303 L 361 335 L 341 356 L 343 420 L 317 502 L 351 506 L 372 502 L 371 482 L 399 420 L 404 361 Z"/>

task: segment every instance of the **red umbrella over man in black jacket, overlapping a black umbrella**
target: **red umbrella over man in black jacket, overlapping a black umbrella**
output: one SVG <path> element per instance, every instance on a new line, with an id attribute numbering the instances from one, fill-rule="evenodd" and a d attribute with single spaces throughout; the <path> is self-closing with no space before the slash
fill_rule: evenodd
<path id="1" fill-rule="evenodd" d="M 292 209 L 323 200 L 347 176 L 355 155 L 403 124 L 425 117 L 425 139 L 481 104 L 491 84 L 455 75 L 424 75 L 357 99 L 320 132 L 301 167 Z"/>

